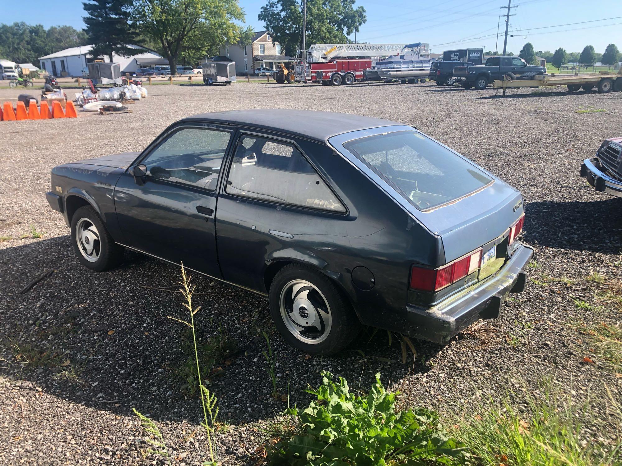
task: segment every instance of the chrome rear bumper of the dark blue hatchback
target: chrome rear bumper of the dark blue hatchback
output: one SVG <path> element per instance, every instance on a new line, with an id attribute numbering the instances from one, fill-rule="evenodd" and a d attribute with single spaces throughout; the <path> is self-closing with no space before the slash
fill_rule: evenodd
<path id="1" fill-rule="evenodd" d="M 508 262 L 482 285 L 465 290 L 432 308 L 407 304 L 406 333 L 412 337 L 445 343 L 478 319 L 497 318 L 508 293 L 525 289 L 524 269 L 534 250 L 519 244 Z"/>

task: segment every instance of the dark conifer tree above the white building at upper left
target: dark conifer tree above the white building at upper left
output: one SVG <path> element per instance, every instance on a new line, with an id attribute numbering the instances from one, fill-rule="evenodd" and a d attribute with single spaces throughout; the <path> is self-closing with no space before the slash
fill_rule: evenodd
<path id="1" fill-rule="evenodd" d="M 106 55 L 113 62 L 113 53 L 131 57 L 143 51 L 128 47 L 139 42 L 138 34 L 128 23 L 129 0 L 88 0 L 82 4 L 88 13 L 83 19 L 88 41 L 93 45 L 93 58 Z"/>

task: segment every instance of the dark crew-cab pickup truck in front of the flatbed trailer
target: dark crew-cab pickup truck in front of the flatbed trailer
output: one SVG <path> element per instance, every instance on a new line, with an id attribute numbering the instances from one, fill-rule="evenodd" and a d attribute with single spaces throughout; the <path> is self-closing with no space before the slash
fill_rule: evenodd
<path id="1" fill-rule="evenodd" d="M 493 80 L 503 80 L 503 76 L 510 80 L 532 79 L 545 73 L 544 66 L 527 65 L 521 57 L 490 57 L 484 65 L 453 68 L 455 78 L 464 78 L 463 88 L 475 87 L 478 90 L 485 89 Z"/>

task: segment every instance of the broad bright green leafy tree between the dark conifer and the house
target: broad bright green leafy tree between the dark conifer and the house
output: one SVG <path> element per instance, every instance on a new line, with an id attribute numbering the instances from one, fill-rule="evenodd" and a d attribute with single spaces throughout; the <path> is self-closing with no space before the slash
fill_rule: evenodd
<path id="1" fill-rule="evenodd" d="M 132 18 L 139 32 L 159 42 L 171 71 L 187 58 L 238 40 L 244 11 L 238 0 L 137 0 Z M 191 55 L 195 53 L 197 55 Z"/>

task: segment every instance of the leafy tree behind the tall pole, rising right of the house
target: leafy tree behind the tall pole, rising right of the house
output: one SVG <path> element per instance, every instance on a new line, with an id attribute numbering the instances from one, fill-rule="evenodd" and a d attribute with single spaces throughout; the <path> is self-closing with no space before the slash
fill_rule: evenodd
<path id="1" fill-rule="evenodd" d="M 358 32 L 367 21 L 364 7 L 355 9 L 355 0 L 307 0 L 307 45 L 346 43 L 348 35 Z M 287 55 L 302 48 L 302 9 L 299 0 L 268 0 L 259 12 L 272 40 L 279 42 Z"/>

